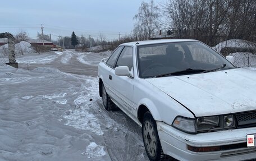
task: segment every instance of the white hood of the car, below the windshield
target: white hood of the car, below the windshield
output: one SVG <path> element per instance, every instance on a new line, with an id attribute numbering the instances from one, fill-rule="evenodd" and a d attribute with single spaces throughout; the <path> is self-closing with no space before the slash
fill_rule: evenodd
<path id="1" fill-rule="evenodd" d="M 243 68 L 146 79 L 196 117 L 256 109 L 256 72 Z"/>

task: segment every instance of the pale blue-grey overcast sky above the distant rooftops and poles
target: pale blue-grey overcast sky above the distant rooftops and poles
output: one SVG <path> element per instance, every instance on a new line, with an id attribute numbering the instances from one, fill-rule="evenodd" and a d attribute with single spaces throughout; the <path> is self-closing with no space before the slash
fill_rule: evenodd
<path id="1" fill-rule="evenodd" d="M 149 2 L 150 0 L 144 0 Z M 71 36 L 75 31 L 77 36 L 94 36 L 103 33 L 107 40 L 131 33 L 134 27 L 132 19 L 138 13 L 142 0 L 23 0 L 1 1 L 0 33 L 10 32 L 13 35 L 20 30 L 29 33 L 36 39 L 37 32 L 52 34 L 52 39 L 58 35 Z M 165 0 L 154 1 L 162 3 Z"/>

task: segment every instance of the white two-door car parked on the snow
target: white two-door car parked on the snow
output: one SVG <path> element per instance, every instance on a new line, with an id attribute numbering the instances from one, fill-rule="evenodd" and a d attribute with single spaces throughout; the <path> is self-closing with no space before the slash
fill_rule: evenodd
<path id="1" fill-rule="evenodd" d="M 99 95 L 142 127 L 150 160 L 255 159 L 256 72 L 230 61 L 198 40 L 121 44 L 99 63 Z"/>

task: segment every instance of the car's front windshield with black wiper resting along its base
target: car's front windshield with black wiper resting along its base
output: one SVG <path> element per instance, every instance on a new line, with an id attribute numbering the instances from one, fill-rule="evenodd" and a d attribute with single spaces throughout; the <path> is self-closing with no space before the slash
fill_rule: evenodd
<path id="1" fill-rule="evenodd" d="M 140 45 L 137 57 L 141 78 L 235 68 L 215 50 L 198 41 Z"/>

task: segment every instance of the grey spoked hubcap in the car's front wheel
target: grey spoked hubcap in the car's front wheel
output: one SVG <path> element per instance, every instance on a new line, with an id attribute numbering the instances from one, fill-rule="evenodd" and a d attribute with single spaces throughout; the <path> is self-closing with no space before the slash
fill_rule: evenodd
<path id="1" fill-rule="evenodd" d="M 152 123 L 145 121 L 143 131 L 145 148 L 148 151 L 148 154 L 151 157 L 154 157 L 157 153 L 157 141 Z"/>

